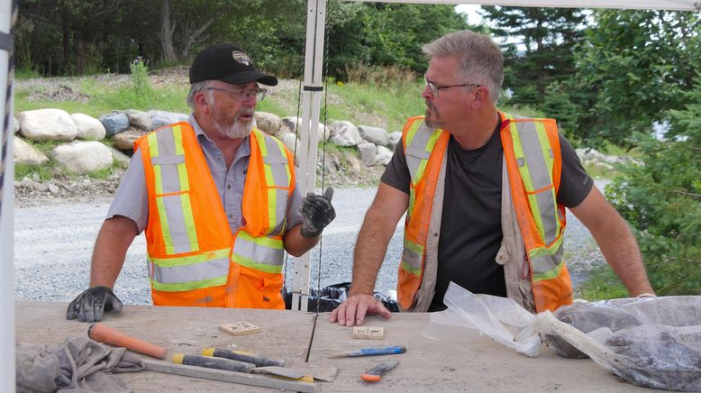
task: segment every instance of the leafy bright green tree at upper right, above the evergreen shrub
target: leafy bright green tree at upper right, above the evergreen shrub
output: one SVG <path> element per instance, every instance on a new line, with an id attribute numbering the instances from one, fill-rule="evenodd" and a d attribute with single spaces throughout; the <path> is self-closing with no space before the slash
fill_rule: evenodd
<path id="1" fill-rule="evenodd" d="M 697 13 L 598 10 L 576 52 L 569 101 L 579 110 L 579 139 L 631 148 L 669 109 L 683 107 L 701 64 Z"/>

